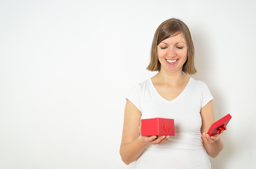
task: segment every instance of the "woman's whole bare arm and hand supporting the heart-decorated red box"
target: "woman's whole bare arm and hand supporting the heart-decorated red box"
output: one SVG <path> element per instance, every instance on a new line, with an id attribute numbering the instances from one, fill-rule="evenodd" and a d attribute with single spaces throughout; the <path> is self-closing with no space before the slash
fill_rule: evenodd
<path id="1" fill-rule="evenodd" d="M 127 165 L 135 161 L 148 144 L 162 143 L 169 136 L 157 138 L 153 136 L 140 135 L 140 118 L 141 113 L 138 108 L 127 100 L 124 111 L 124 127 L 120 146 L 120 155 Z"/>

